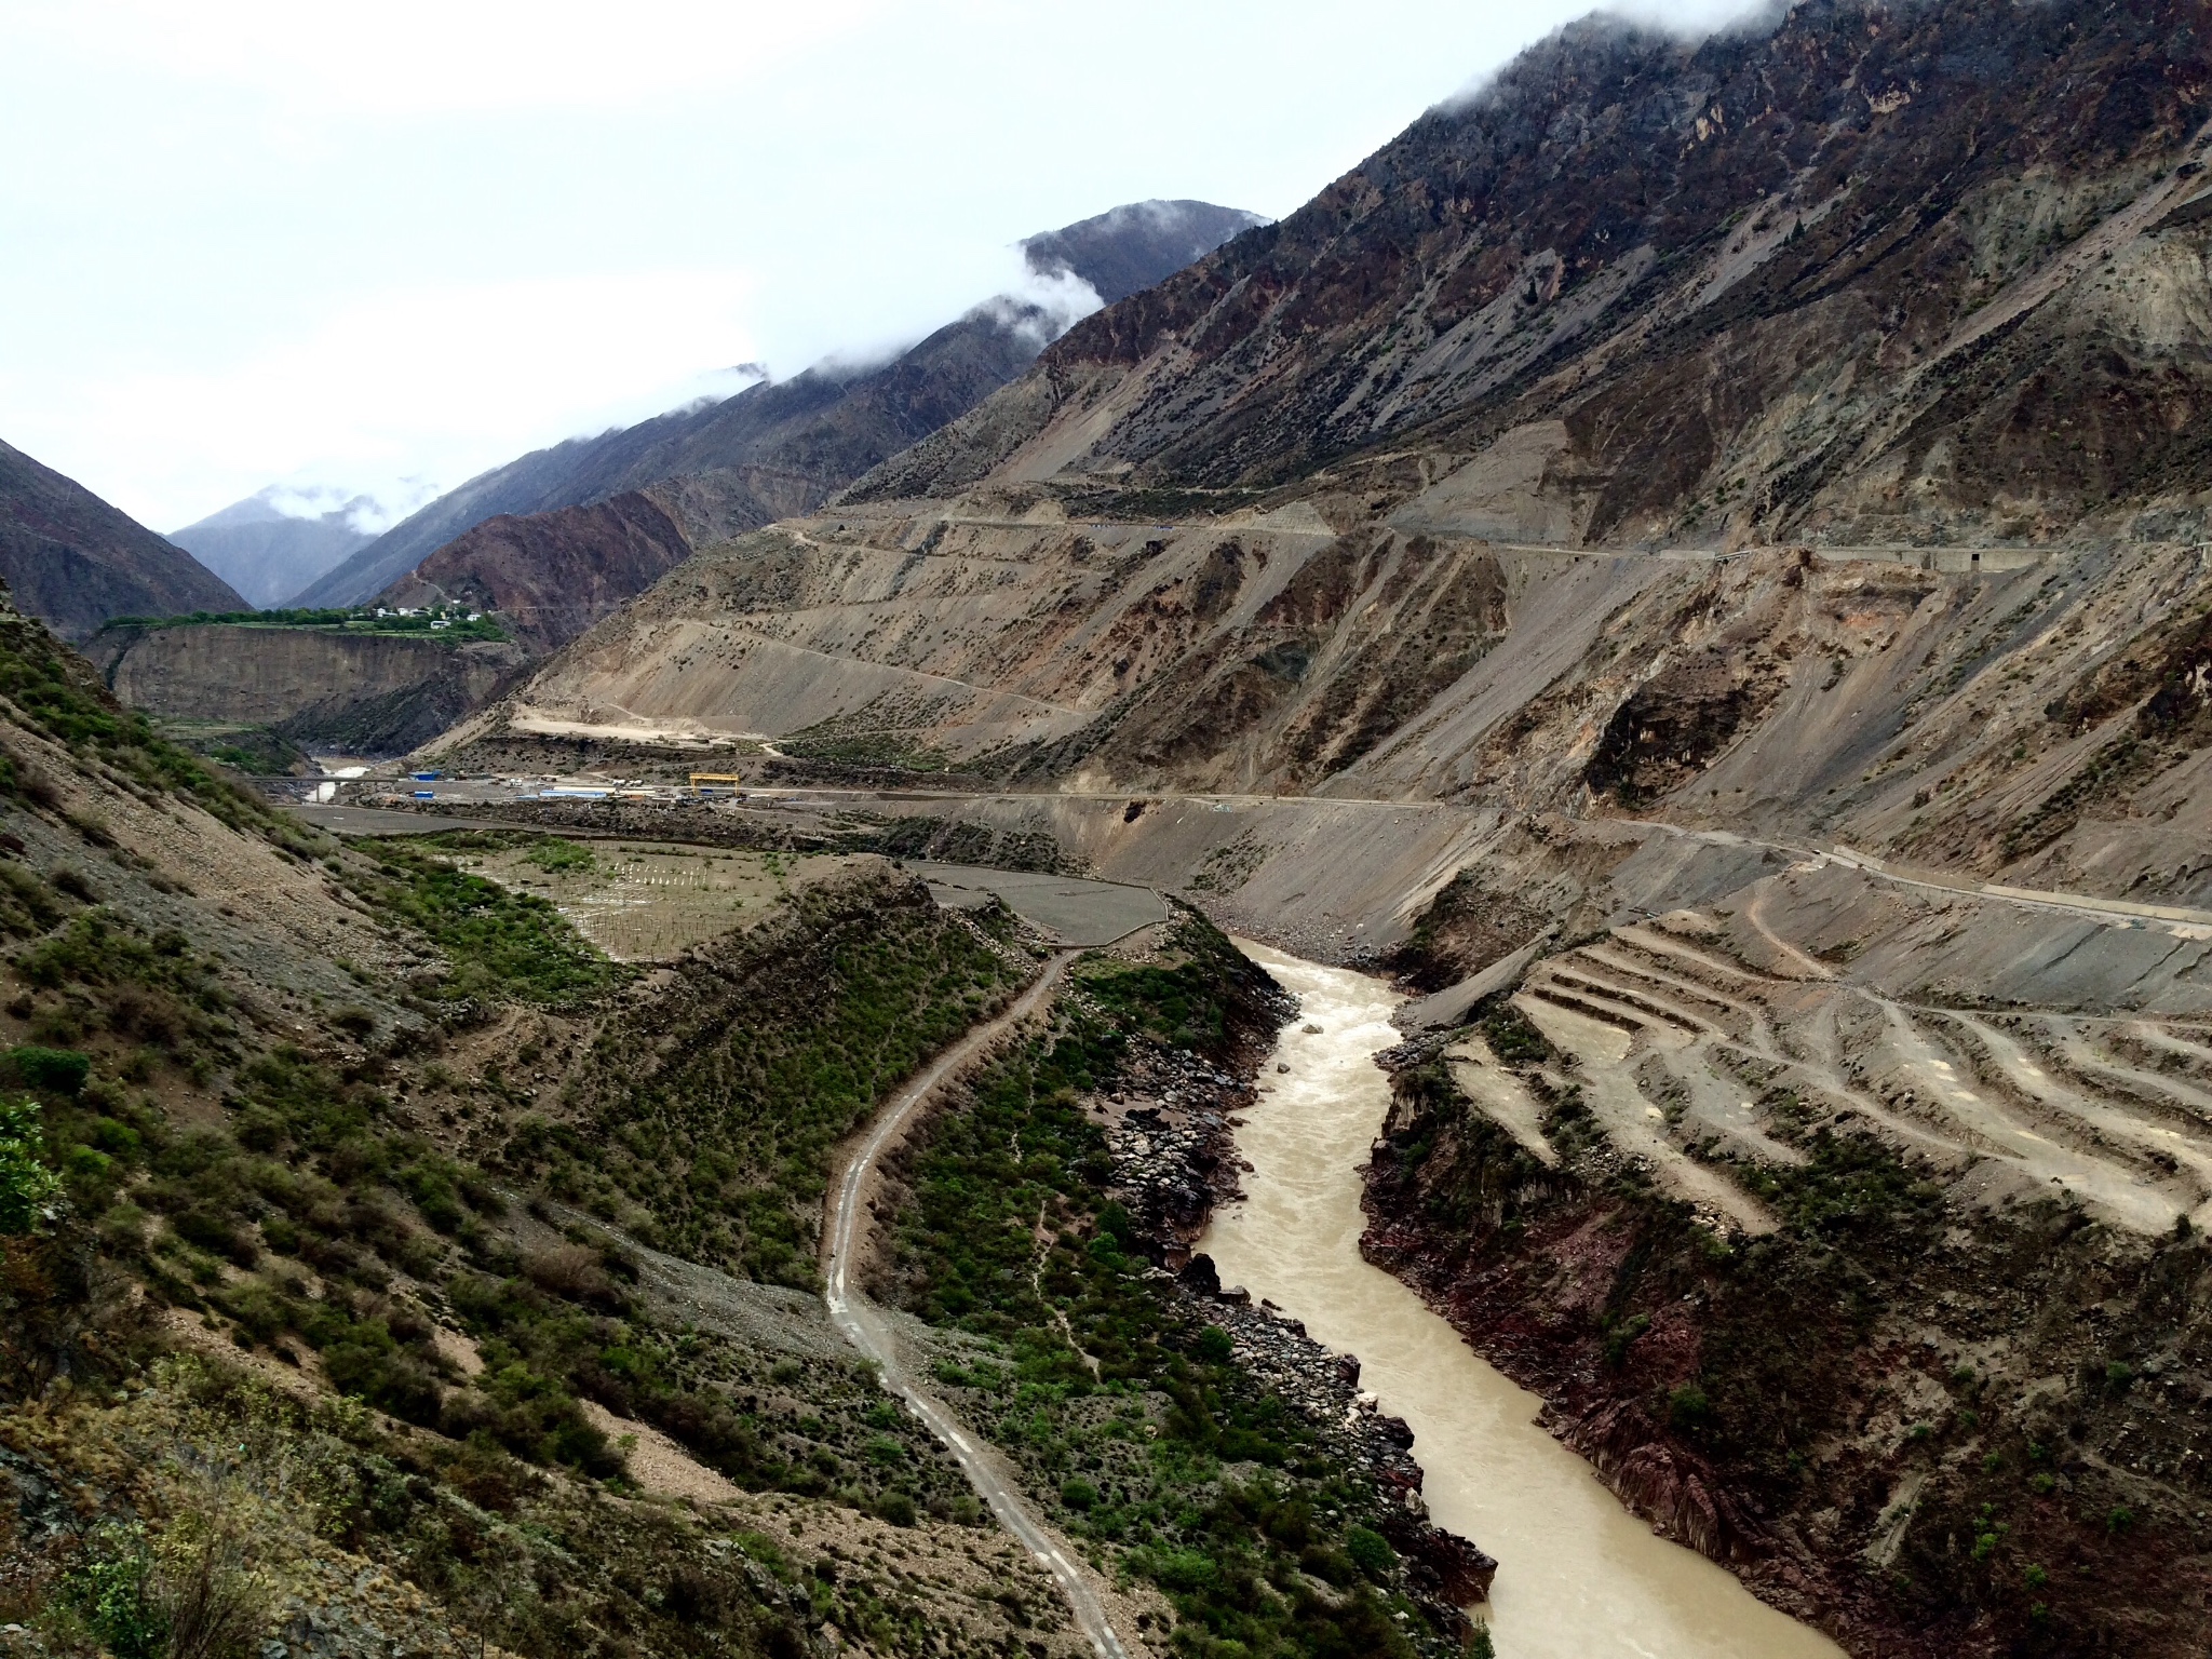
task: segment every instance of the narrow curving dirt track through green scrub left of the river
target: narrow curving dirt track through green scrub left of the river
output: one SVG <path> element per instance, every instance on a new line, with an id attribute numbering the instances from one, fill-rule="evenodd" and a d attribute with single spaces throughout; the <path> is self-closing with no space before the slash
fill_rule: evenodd
<path id="1" fill-rule="evenodd" d="M 1077 951 L 1060 951 L 1051 962 L 1046 962 L 1044 971 L 1031 980 L 1029 989 L 1015 998 L 1013 1006 L 995 1020 L 987 1020 L 975 1026 L 960 1042 L 938 1055 L 876 1117 L 876 1126 L 867 1133 L 860 1150 L 854 1152 L 852 1161 L 845 1166 L 845 1179 L 841 1179 L 836 1188 L 836 1208 L 830 1219 L 830 1250 L 827 1261 L 823 1263 L 823 1276 L 827 1281 L 823 1301 L 827 1301 L 830 1321 L 845 1334 L 845 1340 L 876 1363 L 878 1374 L 883 1376 L 883 1387 L 905 1400 L 907 1409 L 927 1422 L 929 1431 L 951 1449 L 953 1458 L 960 1462 L 960 1471 L 975 1489 L 975 1495 L 991 1506 L 993 1515 L 998 1515 L 998 1524 L 1013 1533 L 1022 1542 L 1022 1548 L 1026 1548 L 1053 1575 L 1053 1582 L 1066 1597 L 1068 1608 L 1075 1613 L 1075 1624 L 1079 1624 L 1084 1635 L 1091 1637 L 1091 1646 L 1097 1648 L 1102 1659 L 1128 1659 L 1128 1650 L 1121 1646 L 1121 1639 L 1113 1632 L 1113 1624 L 1106 1619 L 1104 1604 L 1062 1548 L 1060 1540 L 1029 1513 L 1029 1504 L 1024 1504 L 1020 1493 L 1006 1484 L 989 1453 L 989 1447 L 971 1436 L 960 1418 L 953 1416 L 951 1407 L 929 1394 L 929 1389 L 925 1389 L 907 1369 L 898 1352 L 898 1338 L 891 1336 L 889 1323 L 883 1318 L 883 1310 L 863 1296 L 852 1283 L 854 1254 L 865 1225 L 865 1197 L 876 1161 L 885 1150 L 898 1146 L 916 1113 L 920 1113 L 938 1088 L 960 1075 L 969 1062 L 1037 1011 L 1044 998 L 1051 995 L 1053 987 L 1060 984 L 1060 975 L 1066 973 L 1068 962 L 1073 962 L 1075 956 Z"/>

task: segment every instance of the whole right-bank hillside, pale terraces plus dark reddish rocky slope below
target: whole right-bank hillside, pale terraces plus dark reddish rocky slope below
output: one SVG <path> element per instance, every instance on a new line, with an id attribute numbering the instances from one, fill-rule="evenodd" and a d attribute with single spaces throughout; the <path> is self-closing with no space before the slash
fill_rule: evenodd
<path id="1" fill-rule="evenodd" d="M 1818 858 L 1630 909 L 1396 1055 L 1367 1250 L 1854 1652 L 2197 1652 L 2208 951 Z"/>

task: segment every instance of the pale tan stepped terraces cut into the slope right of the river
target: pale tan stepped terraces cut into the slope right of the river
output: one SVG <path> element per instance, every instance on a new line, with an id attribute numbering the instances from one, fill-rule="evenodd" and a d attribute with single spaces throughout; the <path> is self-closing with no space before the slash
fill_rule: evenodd
<path id="1" fill-rule="evenodd" d="M 1975 1011 L 1838 982 L 1796 945 L 1759 936 L 1756 918 L 1752 949 L 1763 967 L 1728 929 L 1674 911 L 1544 958 L 1513 998 L 1579 1062 L 1608 1139 L 1692 1206 L 1754 1234 L 1774 1228 L 1756 1197 L 1703 1161 L 1803 1164 L 1761 1121 L 1759 1097 L 1772 1104 L 1778 1084 L 1801 1108 L 1863 1119 L 1936 1170 L 1975 1168 L 1984 1199 L 2059 1188 L 2148 1237 L 2212 1221 L 2203 1009 L 2179 1022 Z M 1455 1060 L 1484 1064 L 1480 1048 Z M 1511 1121 L 1535 1121 L 1511 1084 L 1469 1082 L 1513 1099 Z M 1566 1073 L 1546 1082 L 1571 1086 Z"/>

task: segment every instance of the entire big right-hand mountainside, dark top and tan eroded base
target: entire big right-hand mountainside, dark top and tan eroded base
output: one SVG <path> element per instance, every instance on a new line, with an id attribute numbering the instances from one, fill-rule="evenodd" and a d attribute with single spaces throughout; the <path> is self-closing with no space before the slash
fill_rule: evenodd
<path id="1" fill-rule="evenodd" d="M 708 549 L 509 728 L 876 732 L 1031 785 L 1668 814 L 2194 894 L 2190 15 L 1571 29 L 841 504 Z"/>

